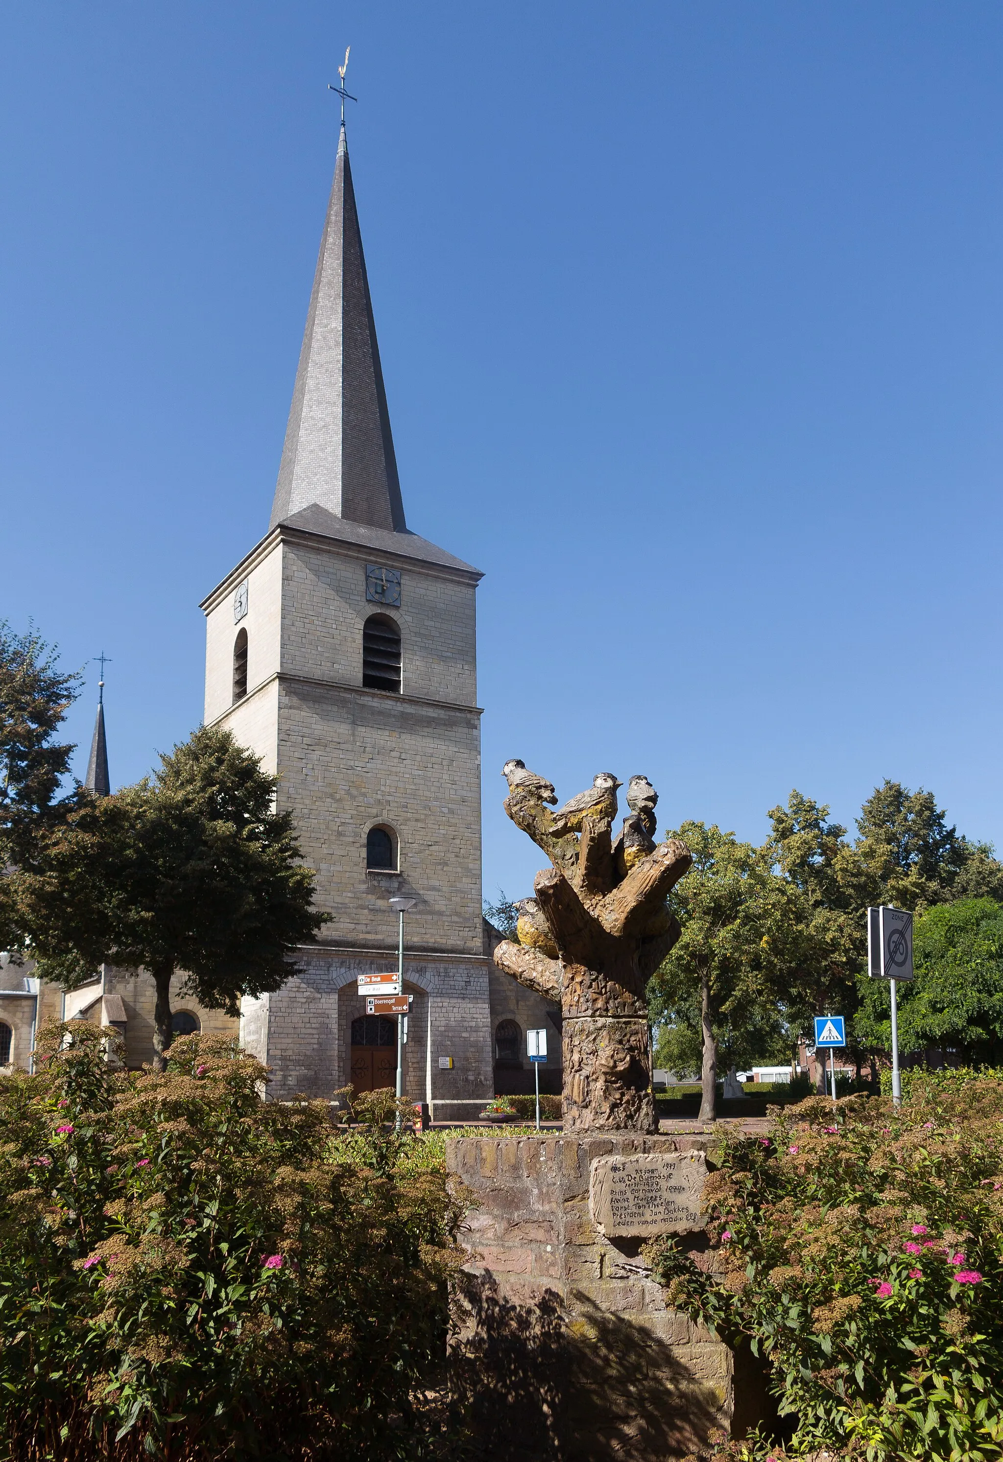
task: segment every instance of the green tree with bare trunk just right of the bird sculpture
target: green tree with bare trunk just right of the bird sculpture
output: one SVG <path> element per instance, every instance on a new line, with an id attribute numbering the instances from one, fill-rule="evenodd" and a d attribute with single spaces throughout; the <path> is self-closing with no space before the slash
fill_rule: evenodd
<path id="1" fill-rule="evenodd" d="M 735 1064 L 776 1054 L 784 1001 L 806 962 L 803 899 L 768 849 L 733 832 L 687 822 L 668 836 L 686 842 L 693 867 L 670 896 L 683 933 L 652 977 L 649 1010 L 678 1032 L 664 1051 L 675 1042 L 681 1056 L 689 1039 L 694 1054 L 699 1028 L 700 1118 L 711 1121 L 719 1054 Z"/>

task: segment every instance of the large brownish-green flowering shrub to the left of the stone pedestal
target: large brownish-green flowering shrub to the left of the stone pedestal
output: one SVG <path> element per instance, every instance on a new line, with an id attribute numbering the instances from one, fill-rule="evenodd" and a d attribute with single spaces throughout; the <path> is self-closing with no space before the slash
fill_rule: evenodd
<path id="1" fill-rule="evenodd" d="M 344 1161 L 329 1105 L 262 1101 L 225 1039 L 177 1039 L 162 1075 L 101 1042 L 51 1028 L 39 1075 L 0 1079 L 0 1456 L 420 1452 L 446 1175 Z"/>

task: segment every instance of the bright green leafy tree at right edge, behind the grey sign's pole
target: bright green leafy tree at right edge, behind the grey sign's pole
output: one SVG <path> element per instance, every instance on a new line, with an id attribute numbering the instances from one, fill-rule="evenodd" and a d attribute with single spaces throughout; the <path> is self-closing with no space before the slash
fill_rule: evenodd
<path id="1" fill-rule="evenodd" d="M 971 1064 L 1003 1058 L 1003 905 L 959 899 L 924 909 L 914 923 L 915 980 L 898 985 L 899 1048 L 958 1051 Z M 890 1050 L 885 980 L 860 977 L 858 1028 Z"/>

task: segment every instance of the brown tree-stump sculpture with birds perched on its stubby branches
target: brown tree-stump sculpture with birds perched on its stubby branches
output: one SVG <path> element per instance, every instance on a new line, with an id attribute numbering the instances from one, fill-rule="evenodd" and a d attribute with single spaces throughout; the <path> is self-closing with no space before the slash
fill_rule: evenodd
<path id="1" fill-rule="evenodd" d="M 553 867 L 519 906 L 519 943 L 503 940 L 494 962 L 560 1000 L 564 1130 L 654 1132 L 645 987 L 680 937 L 665 899 L 690 867 L 689 848 L 655 845 L 658 794 L 646 776 L 630 779 L 630 816 L 614 842 L 623 784 L 610 772 L 556 811 L 545 806 L 557 801 L 553 785 L 523 762 L 503 772 L 506 813 Z"/>

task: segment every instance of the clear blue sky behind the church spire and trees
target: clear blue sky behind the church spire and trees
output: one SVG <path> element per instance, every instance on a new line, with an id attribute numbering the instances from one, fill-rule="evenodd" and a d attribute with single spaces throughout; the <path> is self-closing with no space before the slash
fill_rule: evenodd
<path id="1" fill-rule="evenodd" d="M 408 522 L 485 572 L 485 892 L 540 864 L 513 754 L 753 839 L 893 776 L 1003 845 L 988 3 L 4 7 L 0 616 L 111 656 L 113 784 L 268 526 L 348 42 Z"/>

